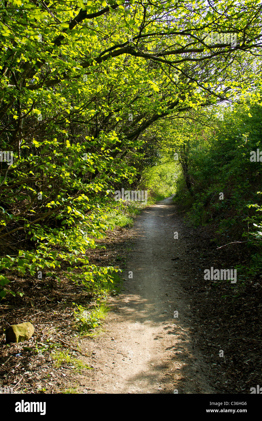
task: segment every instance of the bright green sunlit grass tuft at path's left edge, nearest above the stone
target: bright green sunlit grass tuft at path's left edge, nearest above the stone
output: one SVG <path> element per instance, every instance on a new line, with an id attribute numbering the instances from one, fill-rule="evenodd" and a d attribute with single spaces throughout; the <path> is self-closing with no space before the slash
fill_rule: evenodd
<path id="1" fill-rule="evenodd" d="M 75 303 L 73 303 L 75 304 Z M 75 304 L 74 315 L 80 334 L 85 334 L 92 329 L 98 328 L 102 320 L 106 318 L 106 314 L 110 311 L 106 304 L 97 304 L 92 309 L 87 309 L 81 305 Z"/>

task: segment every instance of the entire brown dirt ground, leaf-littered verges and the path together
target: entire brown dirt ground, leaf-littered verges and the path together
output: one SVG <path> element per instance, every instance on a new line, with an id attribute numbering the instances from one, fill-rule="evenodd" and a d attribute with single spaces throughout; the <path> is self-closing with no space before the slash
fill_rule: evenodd
<path id="1" fill-rule="evenodd" d="M 248 266 L 249 255 L 231 244 L 234 233 L 220 237 L 215 223 L 193 228 L 184 215 L 169 197 L 145 208 L 133 228 L 109 230 L 87 250 L 90 264 L 124 270 L 120 294 L 109 297 L 111 311 L 90 336 L 79 336 L 74 317 L 74 303 L 96 304 L 83 286 L 70 277 L 14 277 L 12 288 L 24 296 L 1 302 L 0 387 L 24 394 L 250 394 L 261 384 L 262 275 L 240 275 L 233 285 L 204 280 L 204 269 Z M 5 328 L 27 321 L 32 338 L 6 344 Z M 69 360 L 59 365 L 60 351 Z"/>

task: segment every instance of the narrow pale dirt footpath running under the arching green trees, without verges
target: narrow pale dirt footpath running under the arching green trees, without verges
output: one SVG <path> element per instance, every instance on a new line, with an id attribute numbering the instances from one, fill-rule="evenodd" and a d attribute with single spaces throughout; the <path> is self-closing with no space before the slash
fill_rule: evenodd
<path id="1" fill-rule="evenodd" d="M 138 217 L 124 291 L 109 301 L 101 335 L 84 344 L 94 370 L 80 376 L 80 393 L 216 393 L 208 363 L 191 338 L 191 300 L 176 270 L 188 240 L 174 212 L 169 197 Z"/>

